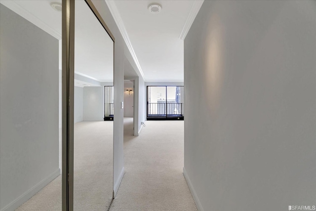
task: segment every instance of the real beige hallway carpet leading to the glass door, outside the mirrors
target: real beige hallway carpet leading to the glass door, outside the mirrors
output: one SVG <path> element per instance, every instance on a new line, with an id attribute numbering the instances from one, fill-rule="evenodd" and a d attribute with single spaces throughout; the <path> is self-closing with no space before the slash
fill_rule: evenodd
<path id="1" fill-rule="evenodd" d="M 125 174 L 110 211 L 196 211 L 183 170 L 183 121 L 147 121 L 133 136 L 124 118 Z"/>

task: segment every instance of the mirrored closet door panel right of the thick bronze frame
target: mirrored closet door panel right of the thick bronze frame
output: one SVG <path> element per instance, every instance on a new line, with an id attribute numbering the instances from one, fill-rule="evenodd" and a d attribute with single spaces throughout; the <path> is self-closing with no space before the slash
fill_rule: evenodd
<path id="1" fill-rule="evenodd" d="M 104 121 L 104 86 L 113 86 L 114 42 L 89 3 L 75 1 L 73 206 L 106 211 L 113 199 L 113 121 Z"/>

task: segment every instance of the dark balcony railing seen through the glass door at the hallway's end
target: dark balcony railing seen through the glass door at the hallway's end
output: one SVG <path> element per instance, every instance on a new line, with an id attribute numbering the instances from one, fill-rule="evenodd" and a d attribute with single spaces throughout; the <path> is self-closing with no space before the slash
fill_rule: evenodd
<path id="1" fill-rule="evenodd" d="M 182 115 L 183 103 L 148 103 L 148 116 Z"/>

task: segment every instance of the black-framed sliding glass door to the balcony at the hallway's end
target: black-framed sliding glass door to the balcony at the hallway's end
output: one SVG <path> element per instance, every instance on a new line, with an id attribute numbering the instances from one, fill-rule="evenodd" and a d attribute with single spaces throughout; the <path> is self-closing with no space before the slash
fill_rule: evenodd
<path id="1" fill-rule="evenodd" d="M 147 86 L 147 120 L 184 120 L 183 86 Z"/>

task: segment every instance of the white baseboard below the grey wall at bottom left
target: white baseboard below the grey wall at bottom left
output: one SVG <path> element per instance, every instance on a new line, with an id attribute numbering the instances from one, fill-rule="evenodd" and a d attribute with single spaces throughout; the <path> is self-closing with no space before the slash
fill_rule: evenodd
<path id="1" fill-rule="evenodd" d="M 39 192 L 43 187 L 45 187 L 49 182 L 53 181 L 57 176 L 60 175 L 60 169 L 57 169 L 52 174 L 50 174 L 45 179 L 41 180 L 33 188 L 26 191 L 24 194 L 19 196 L 13 202 L 1 209 L 1 211 L 14 211 L 20 207 L 24 202 L 28 201 L 32 196 Z"/>

